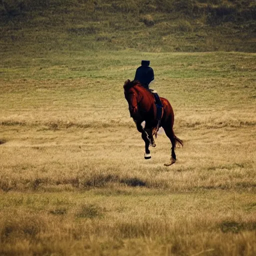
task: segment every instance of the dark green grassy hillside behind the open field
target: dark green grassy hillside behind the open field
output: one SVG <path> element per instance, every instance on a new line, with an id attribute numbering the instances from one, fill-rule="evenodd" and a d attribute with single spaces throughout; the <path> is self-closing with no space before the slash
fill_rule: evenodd
<path id="1" fill-rule="evenodd" d="M 1 52 L 255 52 L 254 0 L 1 0 Z"/>

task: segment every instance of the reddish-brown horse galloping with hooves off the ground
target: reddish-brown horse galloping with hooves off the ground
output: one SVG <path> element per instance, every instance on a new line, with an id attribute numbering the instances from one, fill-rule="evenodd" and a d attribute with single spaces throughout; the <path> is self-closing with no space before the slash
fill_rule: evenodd
<path id="1" fill-rule="evenodd" d="M 139 81 L 130 81 L 129 79 L 124 82 L 123 85 L 124 96 L 129 105 L 130 116 L 136 123 L 137 130 L 141 132 L 141 137 L 145 142 L 144 158 L 151 158 L 150 151 L 148 149 L 149 144 L 155 146 L 153 134 L 156 137 L 155 127 L 158 124 L 156 120 L 156 105 L 154 102 L 153 94 L 145 89 Z M 165 134 L 171 142 L 171 157 L 168 163 L 164 165 L 171 165 L 176 161 L 176 154 L 174 148 L 176 142 L 181 146 L 183 142 L 181 139 L 175 136 L 173 132 L 174 113 L 173 109 L 166 98 L 160 97 L 163 105 L 163 114 L 159 123 L 159 127 L 163 127 Z M 145 121 L 145 127 L 141 126 L 141 122 Z"/>

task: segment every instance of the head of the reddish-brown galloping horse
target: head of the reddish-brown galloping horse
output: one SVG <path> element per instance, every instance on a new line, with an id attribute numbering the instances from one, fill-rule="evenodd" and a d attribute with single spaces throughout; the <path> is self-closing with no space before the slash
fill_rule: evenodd
<path id="1" fill-rule="evenodd" d="M 134 88 L 134 86 L 137 85 L 138 83 L 139 83 L 138 81 L 130 81 L 128 79 L 123 84 L 124 97 L 128 102 L 130 116 L 133 119 L 138 118 L 138 106 L 137 106 L 138 94 Z"/>

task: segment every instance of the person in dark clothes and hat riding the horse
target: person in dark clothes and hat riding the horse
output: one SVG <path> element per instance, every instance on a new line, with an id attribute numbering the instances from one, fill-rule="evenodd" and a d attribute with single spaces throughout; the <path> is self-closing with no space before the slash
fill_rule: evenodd
<path id="1" fill-rule="evenodd" d="M 154 80 L 154 71 L 152 67 L 149 66 L 149 64 L 150 64 L 149 60 L 141 60 L 141 66 L 139 66 L 136 69 L 134 81 L 135 80 L 139 81 L 144 88 L 152 92 L 154 95 L 155 104 L 156 104 L 156 120 L 157 120 L 156 129 L 158 130 L 163 106 L 157 92 L 154 89 L 149 88 L 150 83 L 152 83 Z"/>

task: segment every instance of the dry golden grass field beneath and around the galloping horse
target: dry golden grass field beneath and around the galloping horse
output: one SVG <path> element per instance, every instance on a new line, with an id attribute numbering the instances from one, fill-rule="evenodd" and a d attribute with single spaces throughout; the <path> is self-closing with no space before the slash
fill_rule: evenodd
<path id="1" fill-rule="evenodd" d="M 4 56 L 0 255 L 256 254 L 254 53 Z M 141 59 L 184 141 L 169 167 L 123 96 Z"/>

